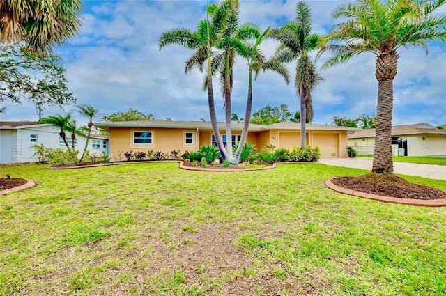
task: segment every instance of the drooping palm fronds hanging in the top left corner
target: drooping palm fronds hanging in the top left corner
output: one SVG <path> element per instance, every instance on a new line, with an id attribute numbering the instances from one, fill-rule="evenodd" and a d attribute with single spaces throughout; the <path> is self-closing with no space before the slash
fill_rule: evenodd
<path id="1" fill-rule="evenodd" d="M 8 0 L 0 4 L 0 42 L 24 42 L 34 54 L 52 52 L 77 34 L 80 0 Z"/>

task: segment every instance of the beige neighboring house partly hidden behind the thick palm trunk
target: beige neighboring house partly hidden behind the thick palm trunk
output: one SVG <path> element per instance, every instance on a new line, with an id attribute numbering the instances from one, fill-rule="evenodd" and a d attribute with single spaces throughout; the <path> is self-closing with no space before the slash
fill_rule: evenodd
<path id="1" fill-rule="evenodd" d="M 353 146 L 358 155 L 373 155 L 375 129 L 359 130 L 348 134 L 348 146 Z M 406 156 L 446 156 L 446 130 L 429 123 L 397 125 L 392 127 L 392 149 L 394 155 L 404 148 Z"/>

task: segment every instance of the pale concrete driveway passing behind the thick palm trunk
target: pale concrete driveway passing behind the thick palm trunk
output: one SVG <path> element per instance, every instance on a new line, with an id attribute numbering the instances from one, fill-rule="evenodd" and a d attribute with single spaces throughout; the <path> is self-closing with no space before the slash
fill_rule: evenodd
<path id="1" fill-rule="evenodd" d="M 347 168 L 367 169 L 371 171 L 373 158 L 321 158 L 320 164 L 329 166 L 344 166 Z M 409 164 L 407 162 L 394 162 L 394 173 L 410 176 L 420 176 L 429 179 L 446 180 L 446 166 L 436 164 Z"/>

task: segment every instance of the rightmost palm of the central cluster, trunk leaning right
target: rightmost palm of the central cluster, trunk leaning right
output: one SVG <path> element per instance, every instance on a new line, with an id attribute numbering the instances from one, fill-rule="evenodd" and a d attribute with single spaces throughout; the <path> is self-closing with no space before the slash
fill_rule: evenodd
<path id="1" fill-rule="evenodd" d="M 240 154 L 242 153 L 243 145 L 245 145 L 249 130 L 249 120 L 251 119 L 252 112 L 252 72 L 256 73 L 256 78 L 260 70 L 263 70 L 263 72 L 265 72 L 266 70 L 272 70 L 282 75 L 282 77 L 284 77 L 286 81 L 286 84 L 289 84 L 290 78 L 288 69 L 286 69 L 286 67 L 282 63 L 275 59 L 265 61 L 265 56 L 258 48 L 263 38 L 269 31 L 270 28 L 266 29 L 262 34 L 258 33 L 258 37 L 256 38 L 256 42 L 254 43 L 254 45 L 245 44 L 238 40 L 238 38 L 233 38 L 233 40 L 231 40 L 231 42 L 233 43 L 233 48 L 236 49 L 237 54 L 246 59 L 249 75 L 245 122 L 243 123 L 243 131 L 238 143 L 236 154 L 233 157 L 233 164 L 238 164 L 239 162 Z"/>

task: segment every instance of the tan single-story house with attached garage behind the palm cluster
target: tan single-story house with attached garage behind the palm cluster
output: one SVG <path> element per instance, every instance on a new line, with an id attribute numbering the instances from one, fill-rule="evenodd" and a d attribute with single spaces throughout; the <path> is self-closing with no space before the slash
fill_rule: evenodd
<path id="1" fill-rule="evenodd" d="M 110 155 L 116 160 L 118 152 L 197 151 L 203 145 L 215 144 L 210 122 L 146 120 L 111 123 L 95 123 L 96 127 L 110 133 Z M 226 143 L 225 123 L 218 123 L 220 134 Z M 243 123 L 232 123 L 232 143 L 240 139 Z M 355 127 L 307 124 L 307 144 L 318 145 L 321 157 L 347 157 L 347 132 Z M 249 125 L 247 142 L 257 150 L 274 145 L 275 148 L 300 147 L 300 123 L 275 123 L 272 125 Z"/>

